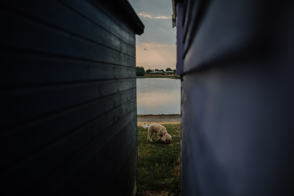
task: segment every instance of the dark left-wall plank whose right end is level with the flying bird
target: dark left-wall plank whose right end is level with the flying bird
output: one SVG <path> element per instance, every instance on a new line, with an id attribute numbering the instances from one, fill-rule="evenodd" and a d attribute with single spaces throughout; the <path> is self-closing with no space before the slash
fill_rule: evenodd
<path id="1" fill-rule="evenodd" d="M 23 3 L 25 2 L 20 2 L 20 4 L 17 5 L 4 4 L 1 14 L 5 15 L 6 13 L 8 19 L 12 17 L 12 15 L 15 15 L 13 17 L 20 16 L 23 20 L 35 21 L 36 25 L 46 25 L 96 43 L 104 43 L 105 46 L 107 46 L 106 42 L 111 43 L 111 41 L 117 40 L 125 43 L 125 45 L 128 45 L 131 48 L 135 48 L 134 38 L 129 39 L 130 35 L 126 36 L 123 32 L 118 31 L 118 29 L 113 29 L 116 31 L 110 31 L 105 27 L 106 24 L 103 20 L 99 20 L 99 24 L 97 21 L 88 19 L 84 15 L 77 14 L 76 11 L 69 9 L 69 7 L 64 7 L 64 5 L 55 1 L 50 3 L 42 2 L 34 6 L 29 6 L 27 9 L 21 9 L 21 4 Z M 39 10 L 42 8 L 46 11 L 40 12 Z M 97 14 L 99 16 L 101 15 L 101 13 Z M 111 35 L 110 37 L 112 39 L 107 39 L 107 37 L 105 37 L 107 34 Z M 119 48 L 115 49 L 119 50 Z"/>

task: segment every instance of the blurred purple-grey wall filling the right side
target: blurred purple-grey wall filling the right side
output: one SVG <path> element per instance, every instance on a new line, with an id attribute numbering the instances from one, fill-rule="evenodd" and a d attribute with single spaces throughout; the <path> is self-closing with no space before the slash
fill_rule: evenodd
<path id="1" fill-rule="evenodd" d="M 182 195 L 292 195 L 293 2 L 181 4 Z"/>

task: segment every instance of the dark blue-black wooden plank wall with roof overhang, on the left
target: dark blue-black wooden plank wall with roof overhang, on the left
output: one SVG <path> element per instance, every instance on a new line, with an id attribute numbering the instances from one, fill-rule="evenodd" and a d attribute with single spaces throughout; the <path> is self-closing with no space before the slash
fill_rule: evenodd
<path id="1" fill-rule="evenodd" d="M 1 195 L 136 193 L 135 34 L 127 1 L 5 1 Z"/>

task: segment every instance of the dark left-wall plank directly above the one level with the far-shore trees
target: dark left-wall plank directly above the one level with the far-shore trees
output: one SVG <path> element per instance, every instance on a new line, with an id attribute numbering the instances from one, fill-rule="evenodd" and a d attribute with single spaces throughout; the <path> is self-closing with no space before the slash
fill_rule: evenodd
<path id="1" fill-rule="evenodd" d="M 27 21 L 21 17 L 11 18 L 9 22 L 4 22 L 2 27 L 13 29 L 12 31 L 1 32 L 2 36 L 6 37 L 6 39 L 0 41 L 1 48 L 4 50 L 6 48 L 20 48 L 125 66 L 135 65 L 134 49 L 122 48 L 123 51 L 120 51 L 57 29 L 48 28 L 48 26 L 36 25 L 33 21 Z M 17 29 L 14 29 L 16 27 Z M 19 31 L 22 33 L 19 33 Z M 113 44 L 117 45 L 118 43 Z M 131 55 L 128 54 L 128 51 L 131 52 Z"/>

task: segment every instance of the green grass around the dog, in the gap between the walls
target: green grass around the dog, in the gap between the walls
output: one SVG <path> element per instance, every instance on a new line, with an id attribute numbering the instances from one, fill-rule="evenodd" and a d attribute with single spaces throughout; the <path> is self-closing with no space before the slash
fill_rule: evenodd
<path id="1" fill-rule="evenodd" d="M 137 194 L 159 190 L 169 195 L 180 195 L 180 123 L 162 123 L 172 136 L 171 143 L 157 142 L 153 134 L 153 142 L 147 140 L 148 132 L 138 126 L 138 192 Z M 147 192 L 147 193 L 148 193 Z"/>

